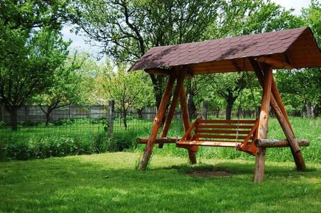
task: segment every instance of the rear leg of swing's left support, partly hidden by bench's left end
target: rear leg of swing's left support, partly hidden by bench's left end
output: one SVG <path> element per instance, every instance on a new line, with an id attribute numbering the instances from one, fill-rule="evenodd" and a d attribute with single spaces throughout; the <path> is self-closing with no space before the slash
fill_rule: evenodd
<path id="1" fill-rule="evenodd" d="M 186 132 L 190 128 L 190 118 L 188 116 L 188 105 L 186 101 L 184 84 L 182 84 L 182 86 L 180 87 L 179 95 L 180 95 L 180 110 L 182 111 L 184 131 Z M 195 146 L 193 150 L 198 150 L 198 146 Z M 188 150 L 188 157 L 190 159 L 190 163 L 195 164 L 196 155 L 195 155 L 195 151 L 193 150 Z"/>

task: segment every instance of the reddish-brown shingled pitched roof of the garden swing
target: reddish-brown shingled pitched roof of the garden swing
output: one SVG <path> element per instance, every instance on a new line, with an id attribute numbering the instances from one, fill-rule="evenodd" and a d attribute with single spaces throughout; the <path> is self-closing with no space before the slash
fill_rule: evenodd
<path id="1" fill-rule="evenodd" d="M 183 66 L 188 74 L 253 71 L 250 58 L 272 68 L 321 67 L 321 52 L 310 28 L 158 46 L 145 53 L 129 71 L 169 74 Z"/>

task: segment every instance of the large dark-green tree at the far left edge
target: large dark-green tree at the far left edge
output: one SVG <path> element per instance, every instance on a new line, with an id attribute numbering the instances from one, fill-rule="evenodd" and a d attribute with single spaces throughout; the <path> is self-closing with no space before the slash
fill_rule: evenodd
<path id="1" fill-rule="evenodd" d="M 58 30 L 68 1 L 10 1 L 0 4 L 0 103 L 17 129 L 17 110 L 51 85 L 51 75 L 66 58 L 68 42 Z"/>

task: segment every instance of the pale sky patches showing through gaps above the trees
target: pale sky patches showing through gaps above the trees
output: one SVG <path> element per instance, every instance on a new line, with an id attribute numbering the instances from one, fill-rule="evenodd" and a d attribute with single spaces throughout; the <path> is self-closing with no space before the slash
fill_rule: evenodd
<path id="1" fill-rule="evenodd" d="M 308 7 L 310 4 L 310 0 L 272 0 L 273 2 L 284 6 L 285 9 L 295 9 L 294 14 L 300 14 L 300 10 L 302 7 Z M 321 1 L 321 0 L 319 0 Z M 91 53 L 92 56 L 98 56 L 99 48 L 96 46 L 90 46 L 86 43 L 86 39 L 83 36 L 78 36 L 75 33 L 70 32 L 71 26 L 65 26 L 62 30 L 63 39 L 68 41 L 71 39 L 73 43 L 71 43 L 70 49 L 76 49 L 78 51 L 87 51 Z"/>

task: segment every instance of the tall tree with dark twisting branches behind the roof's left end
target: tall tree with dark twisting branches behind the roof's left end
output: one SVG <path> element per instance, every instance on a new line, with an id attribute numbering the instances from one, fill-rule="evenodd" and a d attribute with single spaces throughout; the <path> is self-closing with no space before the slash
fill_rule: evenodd
<path id="1" fill-rule="evenodd" d="M 222 1 L 84 1 L 73 23 L 117 62 L 133 62 L 153 46 L 200 41 Z M 165 77 L 150 74 L 158 106 Z"/>

